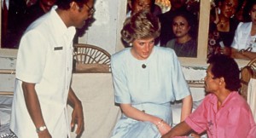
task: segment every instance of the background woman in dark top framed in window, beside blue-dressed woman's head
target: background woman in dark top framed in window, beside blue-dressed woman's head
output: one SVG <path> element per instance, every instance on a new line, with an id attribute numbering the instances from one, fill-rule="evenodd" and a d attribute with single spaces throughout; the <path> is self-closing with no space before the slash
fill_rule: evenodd
<path id="1" fill-rule="evenodd" d="M 172 20 L 172 31 L 175 38 L 170 40 L 166 47 L 174 49 L 177 56 L 196 57 L 197 43 L 191 36 L 195 27 L 195 19 L 187 11 L 177 12 Z"/>

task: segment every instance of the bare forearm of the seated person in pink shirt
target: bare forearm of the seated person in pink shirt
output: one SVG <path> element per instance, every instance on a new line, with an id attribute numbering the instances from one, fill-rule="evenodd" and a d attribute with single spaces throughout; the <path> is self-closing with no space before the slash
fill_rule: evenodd
<path id="1" fill-rule="evenodd" d="M 172 128 L 166 135 L 163 135 L 162 138 L 172 138 L 175 136 L 188 135 L 192 129 L 189 127 L 186 122 L 181 122 Z"/>

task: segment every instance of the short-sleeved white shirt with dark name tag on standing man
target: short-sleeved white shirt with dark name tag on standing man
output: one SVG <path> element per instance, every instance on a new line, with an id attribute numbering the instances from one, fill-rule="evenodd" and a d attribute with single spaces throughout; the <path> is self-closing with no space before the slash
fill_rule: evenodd
<path id="1" fill-rule="evenodd" d="M 20 40 L 10 124 L 19 138 L 38 137 L 26 109 L 22 82 L 36 83 L 44 122 L 52 137 L 70 135 L 66 106 L 75 28 L 67 28 L 55 9 L 33 22 Z"/>

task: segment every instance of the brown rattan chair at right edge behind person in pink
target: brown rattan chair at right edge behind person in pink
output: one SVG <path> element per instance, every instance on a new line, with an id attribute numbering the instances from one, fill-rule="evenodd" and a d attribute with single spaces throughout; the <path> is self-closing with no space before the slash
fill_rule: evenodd
<path id="1" fill-rule="evenodd" d="M 256 58 L 251 60 L 247 66 L 241 68 L 241 89 L 242 97 L 247 100 L 247 88 L 251 78 L 256 78 Z"/>

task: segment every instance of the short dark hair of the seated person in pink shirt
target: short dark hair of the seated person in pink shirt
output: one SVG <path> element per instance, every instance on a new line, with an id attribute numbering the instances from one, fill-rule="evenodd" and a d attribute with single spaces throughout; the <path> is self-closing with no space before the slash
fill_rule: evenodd
<path id="1" fill-rule="evenodd" d="M 212 55 L 207 60 L 212 65 L 214 78 L 224 78 L 225 89 L 237 91 L 240 87 L 240 70 L 233 58 L 228 55 Z"/>

